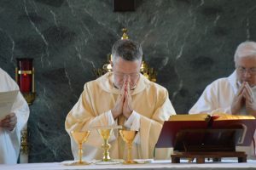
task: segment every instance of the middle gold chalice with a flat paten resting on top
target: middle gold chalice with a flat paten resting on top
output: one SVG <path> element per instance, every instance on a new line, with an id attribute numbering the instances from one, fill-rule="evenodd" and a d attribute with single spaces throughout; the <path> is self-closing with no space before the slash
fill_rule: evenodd
<path id="1" fill-rule="evenodd" d="M 110 138 L 111 134 L 113 133 L 113 129 L 121 128 L 122 126 L 97 126 L 94 127 L 97 129 L 98 133 L 103 139 L 102 150 L 103 150 L 103 157 L 102 161 L 97 161 L 96 164 L 115 164 L 119 163 L 118 160 L 112 160 L 109 156 L 109 149 L 111 148 L 111 144 L 108 143 L 108 139 Z"/>

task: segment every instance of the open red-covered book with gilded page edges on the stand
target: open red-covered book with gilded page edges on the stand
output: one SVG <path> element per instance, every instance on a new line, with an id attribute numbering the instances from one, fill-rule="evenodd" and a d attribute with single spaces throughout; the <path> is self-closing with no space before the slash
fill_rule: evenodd
<path id="1" fill-rule="evenodd" d="M 223 113 L 170 116 L 164 122 L 156 148 L 174 150 L 236 150 L 253 141 L 256 127 L 254 116 Z"/>

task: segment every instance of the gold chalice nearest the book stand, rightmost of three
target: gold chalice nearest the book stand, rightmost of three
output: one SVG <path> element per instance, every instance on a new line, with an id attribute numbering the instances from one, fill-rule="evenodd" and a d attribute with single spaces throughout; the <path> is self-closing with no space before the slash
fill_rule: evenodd
<path id="1" fill-rule="evenodd" d="M 133 161 L 131 158 L 131 147 L 132 142 L 137 134 L 137 131 L 135 130 L 119 130 L 119 134 L 122 137 L 122 139 L 125 141 L 126 144 L 128 144 L 128 154 L 127 154 L 127 160 L 124 161 L 124 164 L 136 164 L 137 161 Z"/>

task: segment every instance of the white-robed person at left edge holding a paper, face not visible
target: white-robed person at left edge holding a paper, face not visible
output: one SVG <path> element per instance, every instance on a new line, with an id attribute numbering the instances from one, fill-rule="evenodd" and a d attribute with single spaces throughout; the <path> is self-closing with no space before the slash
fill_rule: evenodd
<path id="1" fill-rule="evenodd" d="M 19 86 L 0 68 L 0 92 L 13 90 L 19 90 Z M 0 120 L 0 163 L 17 163 L 20 153 L 20 132 L 28 116 L 28 105 L 19 92 L 9 115 Z"/>

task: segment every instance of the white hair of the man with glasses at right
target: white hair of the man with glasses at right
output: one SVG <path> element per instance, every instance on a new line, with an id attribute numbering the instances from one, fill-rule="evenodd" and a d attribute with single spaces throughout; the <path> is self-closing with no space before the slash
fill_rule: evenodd
<path id="1" fill-rule="evenodd" d="M 234 60 L 241 57 L 249 57 L 256 55 L 256 42 L 241 42 L 236 48 Z"/>

